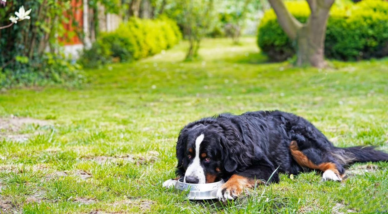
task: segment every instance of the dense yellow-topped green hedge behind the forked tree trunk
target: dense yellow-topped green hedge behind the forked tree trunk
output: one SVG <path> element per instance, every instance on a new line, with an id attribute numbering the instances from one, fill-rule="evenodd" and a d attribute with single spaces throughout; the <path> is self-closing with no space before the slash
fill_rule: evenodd
<path id="1" fill-rule="evenodd" d="M 301 22 L 310 15 L 305 1 L 286 2 Z M 293 41 L 277 22 L 274 10 L 267 10 L 258 27 L 258 46 L 271 60 L 282 61 L 295 54 Z M 363 0 L 333 5 L 327 21 L 325 55 L 338 60 L 361 60 L 388 55 L 388 2 Z"/>

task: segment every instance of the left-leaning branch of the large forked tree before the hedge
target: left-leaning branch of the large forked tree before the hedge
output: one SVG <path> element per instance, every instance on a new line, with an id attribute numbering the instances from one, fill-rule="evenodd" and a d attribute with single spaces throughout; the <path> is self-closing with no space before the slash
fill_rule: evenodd
<path id="1" fill-rule="evenodd" d="M 333 0 L 334 1 L 334 0 Z M 277 22 L 290 39 L 295 39 L 298 29 L 302 24 L 287 10 L 282 0 L 268 0 L 277 16 Z"/>

